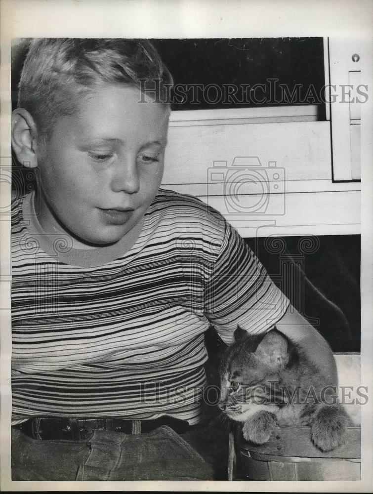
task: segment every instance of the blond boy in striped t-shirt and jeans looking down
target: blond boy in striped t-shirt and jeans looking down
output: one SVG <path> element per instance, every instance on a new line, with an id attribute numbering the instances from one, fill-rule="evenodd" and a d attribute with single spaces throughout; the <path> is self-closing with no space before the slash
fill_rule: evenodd
<path id="1" fill-rule="evenodd" d="M 172 83 L 144 40 L 31 43 L 12 121 L 39 170 L 13 207 L 13 480 L 212 479 L 189 444 L 210 324 L 227 343 L 276 325 L 336 383 L 325 340 L 237 232 L 160 189 L 154 80 Z"/>

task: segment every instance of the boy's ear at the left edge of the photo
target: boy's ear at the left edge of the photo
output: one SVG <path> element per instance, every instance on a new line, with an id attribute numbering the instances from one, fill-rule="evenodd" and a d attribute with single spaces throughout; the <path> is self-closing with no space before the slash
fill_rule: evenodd
<path id="1" fill-rule="evenodd" d="M 12 113 L 12 147 L 19 163 L 29 168 L 38 166 L 37 128 L 34 119 L 24 108 Z"/>

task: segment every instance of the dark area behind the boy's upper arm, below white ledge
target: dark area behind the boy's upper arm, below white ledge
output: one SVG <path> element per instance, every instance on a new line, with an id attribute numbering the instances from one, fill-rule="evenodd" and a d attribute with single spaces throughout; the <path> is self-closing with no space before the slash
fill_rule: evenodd
<path id="1" fill-rule="evenodd" d="M 323 235 L 317 237 L 318 246 L 312 253 L 299 248 L 303 237 L 282 237 L 285 249 L 268 252 L 265 240 L 246 239 L 276 285 L 290 298 L 303 314 L 329 341 L 334 352 L 360 351 L 360 235 Z M 298 263 L 301 263 L 305 276 Z M 293 290 L 278 281 L 281 262 L 292 263 L 295 277 L 303 282 L 304 306 Z M 319 320 L 319 323 L 315 320 Z"/>

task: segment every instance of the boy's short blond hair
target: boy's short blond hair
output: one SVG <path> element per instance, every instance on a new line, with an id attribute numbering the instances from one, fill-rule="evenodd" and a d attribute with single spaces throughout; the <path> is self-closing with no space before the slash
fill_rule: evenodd
<path id="1" fill-rule="evenodd" d="M 155 83 L 167 104 L 172 76 L 147 40 L 38 38 L 30 42 L 23 65 L 18 107 L 32 115 L 46 137 L 59 117 L 74 113 L 74 95 L 103 84 L 154 91 Z"/>

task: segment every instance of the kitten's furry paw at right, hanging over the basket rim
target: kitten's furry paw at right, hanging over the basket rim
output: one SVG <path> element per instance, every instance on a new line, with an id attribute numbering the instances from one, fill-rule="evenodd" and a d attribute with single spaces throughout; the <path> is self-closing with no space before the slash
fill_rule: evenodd
<path id="1" fill-rule="evenodd" d="M 312 425 L 311 438 L 321 451 L 332 451 L 345 443 L 346 427 L 351 420 L 339 406 L 324 406 Z"/>

